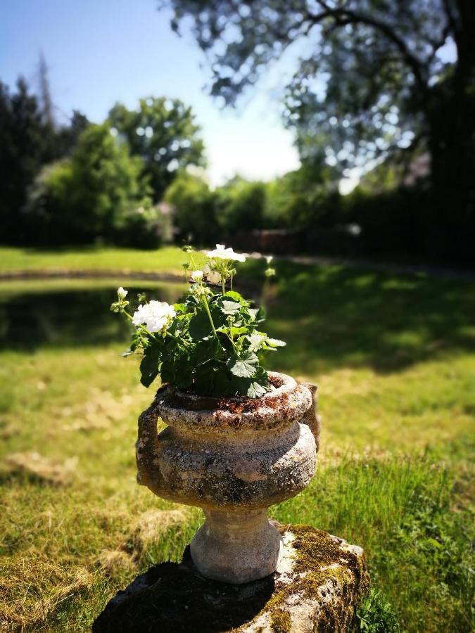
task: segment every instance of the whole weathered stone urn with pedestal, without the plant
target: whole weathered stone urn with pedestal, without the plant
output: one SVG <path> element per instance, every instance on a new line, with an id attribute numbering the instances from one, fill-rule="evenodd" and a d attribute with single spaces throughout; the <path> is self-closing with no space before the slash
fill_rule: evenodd
<path id="1" fill-rule="evenodd" d="M 270 373 L 272 390 L 217 399 L 160 388 L 139 417 L 137 480 L 159 497 L 199 506 L 191 542 L 199 573 L 234 584 L 272 574 L 282 539 L 267 508 L 315 473 L 319 420 L 314 385 Z M 158 418 L 167 424 L 157 433 Z"/>

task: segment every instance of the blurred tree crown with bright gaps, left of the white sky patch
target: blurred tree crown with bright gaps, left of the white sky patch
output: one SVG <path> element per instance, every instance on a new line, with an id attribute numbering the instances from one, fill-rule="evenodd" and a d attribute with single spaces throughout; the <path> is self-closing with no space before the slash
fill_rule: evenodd
<path id="1" fill-rule="evenodd" d="M 132 155 L 140 156 L 153 198 L 160 200 L 178 170 L 204 165 L 203 141 L 191 108 L 179 99 L 141 99 L 137 110 L 116 103 L 110 124 L 125 136 Z"/>

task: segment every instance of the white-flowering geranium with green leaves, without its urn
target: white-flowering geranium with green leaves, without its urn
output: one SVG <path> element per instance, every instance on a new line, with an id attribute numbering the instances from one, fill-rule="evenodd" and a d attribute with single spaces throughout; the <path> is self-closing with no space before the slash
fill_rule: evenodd
<path id="1" fill-rule="evenodd" d="M 222 291 L 215 292 L 205 284 L 204 273 L 195 271 L 189 292 L 172 309 L 165 302 L 155 302 L 156 312 L 145 321 L 146 309 L 139 307 L 133 317 L 129 315 L 137 328 L 126 354 L 137 350 L 143 353 L 140 373 L 145 387 L 160 376 L 165 383 L 199 395 L 258 398 L 269 389 L 262 355 L 285 343 L 260 331 L 265 319 L 263 309 L 251 307 L 251 302 L 236 290 L 225 290 L 225 281 L 235 272 L 234 253 L 228 255 L 224 247 L 208 252 L 208 256 L 213 253 L 217 255 L 208 259 L 208 275 L 220 276 Z M 118 301 L 110 307 L 113 312 L 128 314 L 126 295 L 119 288 Z"/>

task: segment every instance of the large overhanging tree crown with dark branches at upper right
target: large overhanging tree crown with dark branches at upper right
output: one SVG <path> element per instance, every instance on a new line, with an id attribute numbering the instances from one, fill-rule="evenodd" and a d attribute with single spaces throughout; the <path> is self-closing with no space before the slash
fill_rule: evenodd
<path id="1" fill-rule="evenodd" d="M 312 44 L 286 89 L 305 151 L 344 168 L 421 143 L 433 185 L 475 193 L 473 0 L 167 0 L 193 20 L 211 94 L 234 104 L 299 38 Z M 443 49 L 453 45 L 455 60 Z M 308 143 L 308 139 L 311 143 Z"/>

